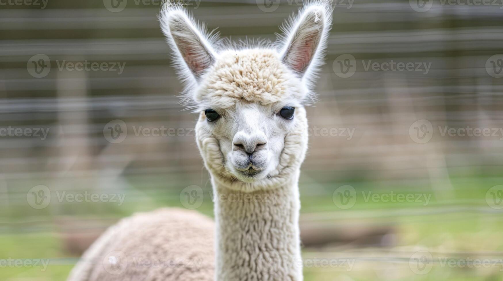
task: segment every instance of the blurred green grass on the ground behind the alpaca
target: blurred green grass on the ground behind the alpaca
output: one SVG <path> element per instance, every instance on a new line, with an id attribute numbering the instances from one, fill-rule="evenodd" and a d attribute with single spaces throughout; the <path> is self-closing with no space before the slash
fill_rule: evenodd
<path id="1" fill-rule="evenodd" d="M 449 256 L 453 253 L 503 253 L 503 216 L 491 209 L 485 202 L 487 190 L 501 182 L 502 178 L 458 177 L 451 178 L 452 189 L 433 191 L 430 185 L 400 185 L 376 182 L 338 182 L 313 186 L 301 183 L 301 220 L 308 216 L 309 222 L 330 225 L 344 229 L 346 225 L 368 224 L 370 227 L 389 226 L 393 229 L 391 247 L 359 246 L 334 244 L 326 247 L 304 248 L 304 258 L 321 254 L 334 255 L 338 258 L 355 258 L 355 266 L 348 271 L 343 268 L 304 268 L 305 280 L 501 280 L 503 271 L 497 268 L 449 268 L 434 264 L 425 275 L 413 273 L 408 265 L 408 256 L 418 249 Z M 156 181 L 150 181 L 150 184 Z M 73 215 L 78 218 L 100 217 L 112 223 L 135 211 L 152 210 L 158 207 L 182 207 L 180 194 L 173 188 L 161 189 L 158 186 L 144 186 L 137 179 L 131 179 L 132 187 L 140 191 L 142 199 L 128 200 L 122 206 L 110 206 L 110 203 L 82 203 L 67 206 L 52 206 L 34 212 L 19 212 L 16 218 L 9 213 L 1 215 L 4 231 L 0 235 L 0 259 L 49 259 L 47 270 L 41 268 L 0 269 L 1 280 L 64 280 L 76 261 L 63 241 L 58 236 L 56 214 Z M 357 194 L 362 191 L 374 193 L 432 193 L 427 206 L 421 202 L 365 202 L 362 196 L 354 207 L 347 210 L 337 208 L 331 194 L 345 184 L 355 187 Z M 176 190 L 176 189 L 175 189 Z M 204 188 L 205 199 L 210 193 L 209 185 Z M 126 191 L 127 193 L 127 191 Z M 146 204 L 148 203 L 148 204 Z M 14 206 L 9 209 L 13 210 Z M 26 210 L 25 206 L 23 208 Z M 204 200 L 197 209 L 212 216 L 213 203 Z M 453 209 L 454 208 L 454 209 Z M 33 214 L 36 214 L 34 216 Z M 319 219 L 318 219 L 319 218 Z M 31 222 L 44 220 L 36 228 Z M 27 227 L 29 226 L 29 227 Z M 35 227 L 35 228 L 33 228 Z M 370 251 L 377 260 L 368 260 L 359 250 Z M 389 251 L 400 253 L 398 260 L 388 260 Z M 355 255 L 355 253 L 357 253 Z M 405 254 L 403 254 L 405 253 Z M 503 255 L 502 255 L 503 256 Z M 495 258 L 495 257 L 494 257 Z"/>

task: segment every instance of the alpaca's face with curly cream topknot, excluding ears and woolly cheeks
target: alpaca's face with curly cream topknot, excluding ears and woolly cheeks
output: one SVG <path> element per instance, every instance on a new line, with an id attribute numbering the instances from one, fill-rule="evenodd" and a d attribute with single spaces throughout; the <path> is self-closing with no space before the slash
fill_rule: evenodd
<path id="1" fill-rule="evenodd" d="M 256 77 L 261 77 L 256 79 Z M 200 78 L 198 135 L 216 138 L 224 175 L 253 183 L 271 176 L 285 137 L 304 118 L 301 78 L 271 50 L 225 51 Z M 204 132 L 204 133 L 202 133 Z"/>

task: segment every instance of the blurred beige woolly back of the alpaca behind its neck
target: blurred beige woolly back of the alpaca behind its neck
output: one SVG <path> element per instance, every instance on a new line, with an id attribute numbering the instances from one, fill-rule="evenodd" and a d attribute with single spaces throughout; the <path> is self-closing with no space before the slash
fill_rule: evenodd
<path id="1" fill-rule="evenodd" d="M 213 280 L 214 227 L 183 209 L 134 214 L 93 243 L 68 281 Z"/>

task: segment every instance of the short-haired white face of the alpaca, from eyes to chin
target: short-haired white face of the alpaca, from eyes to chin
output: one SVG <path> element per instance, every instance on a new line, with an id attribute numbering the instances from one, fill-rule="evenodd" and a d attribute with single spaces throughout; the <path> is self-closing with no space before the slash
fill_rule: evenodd
<path id="1" fill-rule="evenodd" d="M 278 167 L 285 137 L 297 127 L 298 114 L 305 114 L 303 108 L 283 102 L 265 106 L 241 100 L 217 112 L 206 110 L 198 130 L 217 139 L 229 176 L 253 183 Z"/>

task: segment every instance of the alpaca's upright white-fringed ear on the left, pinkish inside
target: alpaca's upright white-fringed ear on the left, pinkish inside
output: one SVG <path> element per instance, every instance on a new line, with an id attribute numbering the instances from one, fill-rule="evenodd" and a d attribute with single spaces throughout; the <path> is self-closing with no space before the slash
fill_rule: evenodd
<path id="1" fill-rule="evenodd" d="M 205 35 L 182 9 L 164 11 L 160 21 L 162 32 L 178 49 L 179 60 L 198 80 L 215 62 L 215 53 Z"/>

